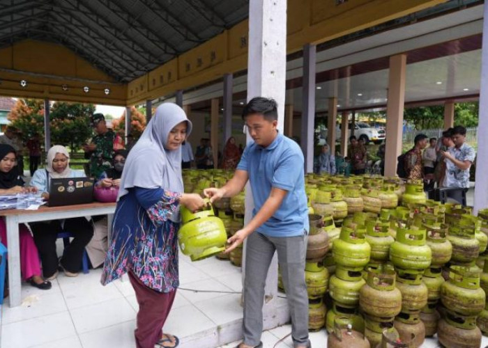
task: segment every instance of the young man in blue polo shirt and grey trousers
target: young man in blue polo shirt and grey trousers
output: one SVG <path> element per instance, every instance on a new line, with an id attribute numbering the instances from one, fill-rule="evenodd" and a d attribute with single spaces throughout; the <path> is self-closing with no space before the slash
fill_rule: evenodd
<path id="1" fill-rule="evenodd" d="M 306 235 L 309 229 L 303 154 L 292 139 L 277 131 L 277 104 L 253 98 L 243 110 L 247 145 L 236 173 L 224 187 L 205 189 L 211 201 L 236 196 L 250 180 L 252 220 L 229 238 L 226 253 L 247 238 L 244 283 L 244 340 L 238 348 L 262 347 L 266 275 L 275 254 L 287 290 L 295 348 L 310 346 L 305 285 Z"/>

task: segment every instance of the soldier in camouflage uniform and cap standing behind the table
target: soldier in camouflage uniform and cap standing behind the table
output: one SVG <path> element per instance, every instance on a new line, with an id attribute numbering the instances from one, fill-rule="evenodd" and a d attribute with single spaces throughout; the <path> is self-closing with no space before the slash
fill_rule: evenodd
<path id="1" fill-rule="evenodd" d="M 104 171 L 112 168 L 116 134 L 107 128 L 102 113 L 93 114 L 93 128 L 97 135 L 91 139 L 89 145 L 84 145 L 83 150 L 85 158 L 90 159 L 90 176 L 98 178 Z"/>

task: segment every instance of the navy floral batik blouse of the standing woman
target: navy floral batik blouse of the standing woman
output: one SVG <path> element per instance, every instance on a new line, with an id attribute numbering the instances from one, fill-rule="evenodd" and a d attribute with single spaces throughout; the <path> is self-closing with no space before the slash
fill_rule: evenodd
<path id="1" fill-rule="evenodd" d="M 168 218 L 179 209 L 180 197 L 181 193 L 135 187 L 119 200 L 103 267 L 103 285 L 132 271 L 155 291 L 176 290 L 180 224 Z"/>

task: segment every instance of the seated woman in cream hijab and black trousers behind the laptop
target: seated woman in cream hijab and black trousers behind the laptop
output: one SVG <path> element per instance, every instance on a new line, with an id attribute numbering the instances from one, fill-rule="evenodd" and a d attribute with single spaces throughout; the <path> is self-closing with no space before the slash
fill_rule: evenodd
<path id="1" fill-rule="evenodd" d="M 49 182 L 51 179 L 63 177 L 84 177 L 83 171 L 70 169 L 70 154 L 61 145 L 55 145 L 47 152 L 47 166 L 38 169 L 31 180 L 31 186 L 42 192 L 43 197 L 49 200 Z M 44 275 L 48 280 L 58 276 L 58 267 L 63 269 L 68 277 L 78 275 L 82 265 L 83 252 L 86 244 L 93 237 L 93 223 L 91 218 L 79 217 L 72 219 L 52 220 L 31 223 L 34 241 L 38 247 L 40 260 L 43 263 Z M 63 257 L 58 260 L 56 254 L 56 239 L 59 232 L 71 232 L 75 238 L 66 246 Z"/>

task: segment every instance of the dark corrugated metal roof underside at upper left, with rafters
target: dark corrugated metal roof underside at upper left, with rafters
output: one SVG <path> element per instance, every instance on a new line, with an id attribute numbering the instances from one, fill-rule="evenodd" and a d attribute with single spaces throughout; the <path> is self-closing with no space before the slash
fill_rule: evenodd
<path id="1" fill-rule="evenodd" d="M 28 38 L 59 43 L 128 82 L 248 12 L 246 0 L 0 0 L 0 49 Z"/>

